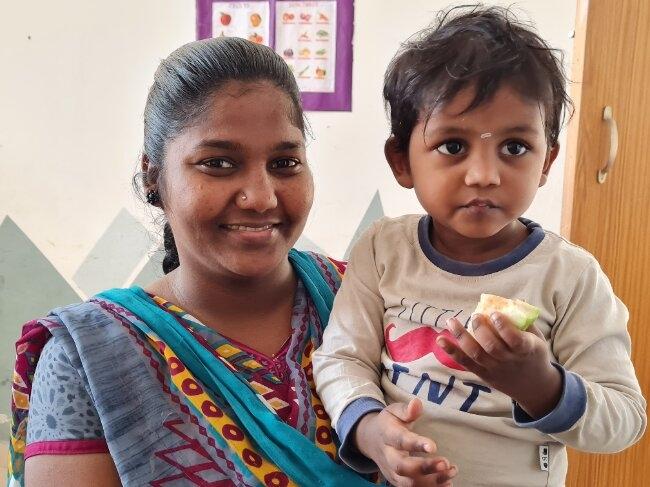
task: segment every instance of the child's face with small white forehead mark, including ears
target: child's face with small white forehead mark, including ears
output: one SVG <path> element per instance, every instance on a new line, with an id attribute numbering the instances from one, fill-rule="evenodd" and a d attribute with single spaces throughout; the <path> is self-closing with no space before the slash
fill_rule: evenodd
<path id="1" fill-rule="evenodd" d="M 473 97 L 473 88 L 465 89 L 426 125 L 421 120 L 408 153 L 389 139 L 386 157 L 398 182 L 415 188 L 436 225 L 483 239 L 528 209 L 558 147 L 547 146 L 543 108 L 511 87 L 461 114 Z"/>

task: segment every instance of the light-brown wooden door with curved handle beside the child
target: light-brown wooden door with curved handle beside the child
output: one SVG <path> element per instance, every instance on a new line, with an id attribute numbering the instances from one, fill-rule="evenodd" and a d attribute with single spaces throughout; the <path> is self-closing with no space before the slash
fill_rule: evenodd
<path id="1" fill-rule="evenodd" d="M 593 253 L 630 311 L 632 360 L 650 396 L 650 0 L 578 0 L 562 233 Z M 618 153 L 604 182 L 615 137 Z M 650 434 L 615 455 L 570 452 L 567 485 L 650 485 Z"/>

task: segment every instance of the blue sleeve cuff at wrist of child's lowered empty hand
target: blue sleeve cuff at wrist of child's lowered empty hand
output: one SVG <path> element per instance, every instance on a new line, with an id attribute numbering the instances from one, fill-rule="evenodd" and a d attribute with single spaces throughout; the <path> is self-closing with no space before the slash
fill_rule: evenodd
<path id="1" fill-rule="evenodd" d="M 359 473 L 374 473 L 377 471 L 377 465 L 357 450 L 352 441 L 353 435 L 350 433 L 354 431 L 359 420 L 366 414 L 381 411 L 385 407 L 383 403 L 376 399 L 360 397 L 345 407 L 336 423 L 336 434 L 341 440 L 339 457 L 347 466 Z"/>

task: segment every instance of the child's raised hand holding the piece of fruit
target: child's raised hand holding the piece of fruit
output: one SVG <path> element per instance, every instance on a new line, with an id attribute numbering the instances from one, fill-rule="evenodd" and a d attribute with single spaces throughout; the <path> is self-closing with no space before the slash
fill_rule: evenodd
<path id="1" fill-rule="evenodd" d="M 438 344 L 459 364 L 517 401 L 532 418 L 551 412 L 562 393 L 562 376 L 551 364 L 544 336 L 535 325 L 521 331 L 501 313 L 472 317 L 474 337 L 455 318 L 447 327 L 456 337 Z"/>

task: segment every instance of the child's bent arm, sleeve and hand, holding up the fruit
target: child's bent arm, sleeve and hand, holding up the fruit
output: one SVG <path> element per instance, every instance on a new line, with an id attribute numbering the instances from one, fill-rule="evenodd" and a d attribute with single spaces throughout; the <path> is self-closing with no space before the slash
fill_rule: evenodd
<path id="1" fill-rule="evenodd" d="M 476 340 L 451 322 L 459 346 L 442 341 L 456 361 L 517 402 L 519 426 L 579 450 L 623 450 L 641 438 L 647 421 L 627 310 L 593 258 L 556 309 L 550 345 L 558 364 L 550 368 L 554 358 L 539 332 L 520 332 L 504 317 L 479 318 Z"/>

